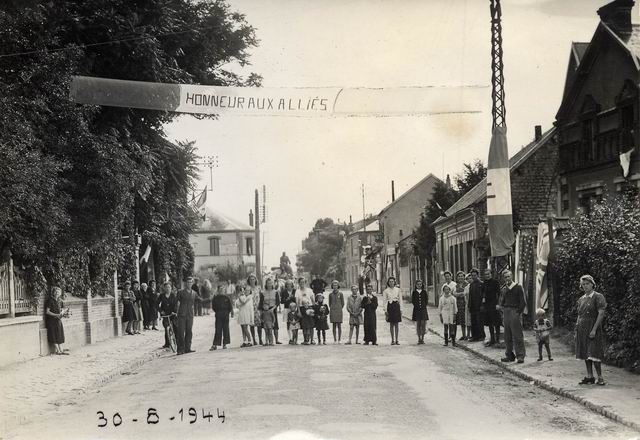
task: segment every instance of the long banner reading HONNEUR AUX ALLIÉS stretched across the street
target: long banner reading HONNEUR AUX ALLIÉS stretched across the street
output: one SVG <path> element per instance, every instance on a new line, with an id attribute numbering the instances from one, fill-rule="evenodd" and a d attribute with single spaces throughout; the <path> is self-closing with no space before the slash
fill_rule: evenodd
<path id="1" fill-rule="evenodd" d="M 79 104 L 236 116 L 402 116 L 480 113 L 488 87 L 217 87 L 74 76 Z"/>

